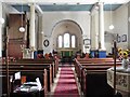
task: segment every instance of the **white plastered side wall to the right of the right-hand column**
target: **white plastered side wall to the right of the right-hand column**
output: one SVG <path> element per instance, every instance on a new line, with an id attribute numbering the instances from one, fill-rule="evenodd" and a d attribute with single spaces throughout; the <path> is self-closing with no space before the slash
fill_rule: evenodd
<path id="1" fill-rule="evenodd" d="M 125 4 L 114 12 L 114 32 L 120 37 L 118 47 L 128 48 L 128 4 Z M 127 34 L 127 41 L 122 42 L 122 36 Z"/>

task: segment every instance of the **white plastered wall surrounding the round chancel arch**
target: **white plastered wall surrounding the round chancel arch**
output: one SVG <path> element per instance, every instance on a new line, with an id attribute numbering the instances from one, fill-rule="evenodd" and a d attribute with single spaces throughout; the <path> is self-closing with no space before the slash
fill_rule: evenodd
<path id="1" fill-rule="evenodd" d="M 49 39 L 50 43 L 53 43 L 51 41 L 52 40 L 51 32 L 53 30 L 53 27 L 55 26 L 56 23 L 63 19 L 70 19 L 76 22 L 80 26 L 82 30 L 82 34 L 86 34 L 88 38 L 90 38 L 90 13 L 89 12 L 43 12 L 42 30 L 44 32 L 44 38 L 42 38 L 41 42 L 43 42 L 44 39 Z M 49 53 L 49 52 L 52 52 L 51 45 L 52 44 L 50 44 L 48 47 L 44 47 L 42 44 L 39 47 L 42 47 L 44 53 Z"/>

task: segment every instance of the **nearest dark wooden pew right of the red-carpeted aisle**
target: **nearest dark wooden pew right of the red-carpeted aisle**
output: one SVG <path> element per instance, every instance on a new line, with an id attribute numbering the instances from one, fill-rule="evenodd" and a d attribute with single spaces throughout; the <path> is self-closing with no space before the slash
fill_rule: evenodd
<path id="1" fill-rule="evenodd" d="M 82 69 L 81 89 L 84 97 L 113 97 L 114 89 L 107 84 L 105 70 Z"/>

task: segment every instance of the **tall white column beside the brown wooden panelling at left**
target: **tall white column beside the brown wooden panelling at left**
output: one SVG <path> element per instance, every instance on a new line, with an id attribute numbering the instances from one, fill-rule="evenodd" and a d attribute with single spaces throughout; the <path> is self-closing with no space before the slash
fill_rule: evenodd
<path id="1" fill-rule="evenodd" d="M 36 48 L 35 42 L 36 42 L 36 37 L 35 37 L 35 3 L 30 4 L 30 28 L 29 28 L 29 41 L 30 41 L 30 50 L 31 52 L 31 58 L 34 58 L 34 50 Z"/>

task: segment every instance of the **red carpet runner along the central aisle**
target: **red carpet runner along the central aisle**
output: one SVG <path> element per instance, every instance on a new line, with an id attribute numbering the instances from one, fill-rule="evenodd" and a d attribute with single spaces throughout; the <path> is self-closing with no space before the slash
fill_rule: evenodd
<path id="1" fill-rule="evenodd" d="M 79 97 L 78 87 L 70 67 L 62 67 L 54 97 Z"/>

